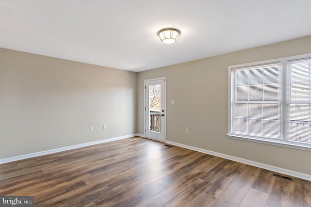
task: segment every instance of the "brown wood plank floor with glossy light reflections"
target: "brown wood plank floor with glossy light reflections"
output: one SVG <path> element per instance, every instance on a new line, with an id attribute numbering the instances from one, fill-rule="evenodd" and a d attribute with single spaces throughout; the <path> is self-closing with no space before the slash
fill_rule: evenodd
<path id="1" fill-rule="evenodd" d="M 35 207 L 311 207 L 311 182 L 144 138 L 0 165 L 0 195 Z"/>

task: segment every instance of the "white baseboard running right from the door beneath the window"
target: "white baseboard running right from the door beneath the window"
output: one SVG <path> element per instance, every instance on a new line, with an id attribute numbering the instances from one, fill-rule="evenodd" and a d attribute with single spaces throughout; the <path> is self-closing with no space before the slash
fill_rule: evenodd
<path id="1" fill-rule="evenodd" d="M 198 147 L 189 146 L 189 145 L 186 145 L 186 144 L 175 143 L 175 142 L 171 142 L 171 141 L 166 141 L 165 143 L 172 144 L 172 145 L 175 145 L 175 146 L 180 146 L 180 147 L 183 147 L 183 148 L 186 148 L 186 149 L 191 149 L 191 150 L 194 150 L 194 151 L 197 151 L 197 152 L 202 152 L 202 153 L 205 153 L 205 154 L 208 154 L 208 155 L 213 155 L 213 156 L 220 157 L 220 158 L 230 159 L 230 160 L 233 160 L 233 161 L 237 161 L 237 162 L 241 162 L 241 163 L 244 163 L 244 164 L 252 165 L 252 166 L 255 166 L 255 167 L 263 168 L 263 169 L 270 170 L 270 171 L 273 171 L 273 172 L 282 173 L 282 174 L 285 174 L 285 175 L 291 175 L 291 176 L 294 176 L 294 177 L 298 177 L 298 178 L 301 178 L 301 179 L 305 179 L 305 180 L 311 181 L 311 175 L 308 175 L 308 174 L 303 174 L 303 173 L 287 170 L 287 169 L 284 169 L 284 168 L 279 168 L 279 167 L 275 167 L 275 166 L 272 166 L 272 165 L 267 165 L 267 164 L 263 164 L 263 163 L 260 163 L 260 162 L 255 162 L 255 161 L 248 160 L 248 159 L 242 159 L 242 158 L 238 158 L 238 157 L 234 157 L 234 156 L 230 156 L 230 155 L 225 155 L 225 154 L 222 154 L 222 153 L 218 153 L 218 152 L 214 152 L 214 151 L 210 151 L 210 150 L 202 149 L 202 148 L 198 148 Z"/>

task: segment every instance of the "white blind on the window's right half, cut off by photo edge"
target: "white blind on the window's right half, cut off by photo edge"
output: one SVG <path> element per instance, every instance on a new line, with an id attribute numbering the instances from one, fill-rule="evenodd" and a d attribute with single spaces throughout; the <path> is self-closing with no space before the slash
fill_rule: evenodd
<path id="1" fill-rule="evenodd" d="M 287 136 L 295 143 L 311 143 L 311 60 L 288 63 Z"/>

